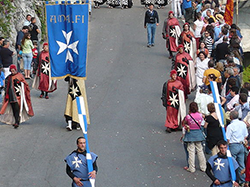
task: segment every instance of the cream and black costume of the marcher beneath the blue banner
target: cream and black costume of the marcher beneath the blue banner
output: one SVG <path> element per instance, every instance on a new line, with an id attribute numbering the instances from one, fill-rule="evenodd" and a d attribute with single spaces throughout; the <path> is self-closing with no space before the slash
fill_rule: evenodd
<path id="1" fill-rule="evenodd" d="M 78 109 L 76 103 L 76 97 L 84 97 L 85 109 L 86 109 L 86 116 L 87 116 L 87 123 L 90 124 L 89 120 L 89 111 L 88 111 L 88 104 L 86 98 L 86 91 L 85 91 L 85 81 L 81 79 L 73 79 L 70 77 L 66 77 L 65 81 L 69 83 L 69 90 L 68 96 L 66 101 L 66 108 L 64 112 L 64 117 L 68 126 L 66 127 L 68 130 L 77 129 L 80 130 L 80 121 L 78 117 Z"/>

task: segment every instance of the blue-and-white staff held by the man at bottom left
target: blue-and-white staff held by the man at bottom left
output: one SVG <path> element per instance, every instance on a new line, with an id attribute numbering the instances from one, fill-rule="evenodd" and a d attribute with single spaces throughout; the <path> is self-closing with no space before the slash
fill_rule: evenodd
<path id="1" fill-rule="evenodd" d="M 88 166 L 88 173 L 93 171 L 93 162 L 92 162 L 92 156 L 90 154 L 89 150 L 89 143 L 88 143 L 88 133 L 87 133 L 87 117 L 86 117 L 86 109 L 85 109 L 85 103 L 83 97 L 76 97 L 76 103 L 78 108 L 78 116 L 80 121 L 80 126 L 84 135 L 84 138 L 86 139 L 86 159 L 87 159 L 87 166 Z M 89 179 L 91 186 L 95 187 L 95 179 L 90 178 Z"/>

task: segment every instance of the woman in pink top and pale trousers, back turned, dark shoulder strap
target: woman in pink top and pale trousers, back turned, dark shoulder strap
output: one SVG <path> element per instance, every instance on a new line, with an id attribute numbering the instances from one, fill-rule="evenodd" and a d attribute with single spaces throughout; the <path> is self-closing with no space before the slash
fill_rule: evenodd
<path id="1" fill-rule="evenodd" d="M 206 158 L 203 152 L 202 141 L 205 140 L 201 125 L 203 122 L 202 114 L 198 112 L 198 105 L 191 102 L 189 105 L 189 114 L 184 118 L 182 125 L 186 132 L 183 141 L 187 142 L 188 165 L 187 171 L 195 172 L 195 153 L 199 159 L 201 171 L 206 170 Z"/>

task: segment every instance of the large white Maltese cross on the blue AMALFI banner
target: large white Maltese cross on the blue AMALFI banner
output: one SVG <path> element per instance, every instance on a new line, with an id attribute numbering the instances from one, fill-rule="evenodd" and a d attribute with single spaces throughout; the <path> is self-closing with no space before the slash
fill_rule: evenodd
<path id="1" fill-rule="evenodd" d="M 71 55 L 71 52 L 69 51 L 69 49 L 72 49 L 74 53 L 76 53 L 78 55 L 78 50 L 77 50 L 77 45 L 79 43 L 78 41 L 75 41 L 72 44 L 69 44 L 71 36 L 72 36 L 72 32 L 70 31 L 69 33 L 66 33 L 65 31 L 62 30 L 63 36 L 66 39 L 66 43 L 60 42 L 60 41 L 56 41 L 56 43 L 59 45 L 59 50 L 57 52 L 57 55 L 61 54 L 63 51 L 67 50 L 67 55 L 66 55 L 66 60 L 65 62 L 67 62 L 67 60 L 74 62 L 73 61 L 73 57 Z"/>

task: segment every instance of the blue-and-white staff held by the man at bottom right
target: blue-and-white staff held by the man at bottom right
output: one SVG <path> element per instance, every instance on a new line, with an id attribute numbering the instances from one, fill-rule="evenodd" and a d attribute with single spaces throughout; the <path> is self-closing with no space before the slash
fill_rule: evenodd
<path id="1" fill-rule="evenodd" d="M 210 81 L 210 86 L 211 86 L 211 90 L 212 90 L 213 98 L 214 98 L 215 112 L 216 112 L 218 120 L 220 122 L 220 126 L 221 126 L 224 140 L 227 141 L 225 126 L 224 126 L 224 116 L 223 116 L 222 106 L 221 106 L 221 102 L 220 102 L 220 95 L 219 95 L 219 91 L 218 91 L 218 87 L 217 87 L 217 82 Z M 236 180 L 236 174 L 235 174 L 235 169 L 234 169 L 234 165 L 233 165 L 232 155 L 231 155 L 231 152 L 229 150 L 229 146 L 227 147 L 227 158 L 228 158 L 228 162 L 229 162 L 229 168 L 230 168 L 230 173 L 231 173 L 231 177 L 232 177 L 232 182 L 234 183 Z"/>

